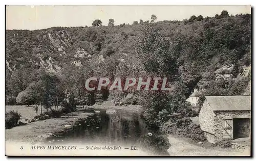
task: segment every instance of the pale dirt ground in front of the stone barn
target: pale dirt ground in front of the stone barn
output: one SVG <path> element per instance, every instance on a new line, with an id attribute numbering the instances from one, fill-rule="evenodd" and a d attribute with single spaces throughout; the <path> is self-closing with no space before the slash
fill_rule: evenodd
<path id="1" fill-rule="evenodd" d="M 249 150 L 223 149 L 191 143 L 188 139 L 168 135 L 170 156 L 249 156 Z"/>

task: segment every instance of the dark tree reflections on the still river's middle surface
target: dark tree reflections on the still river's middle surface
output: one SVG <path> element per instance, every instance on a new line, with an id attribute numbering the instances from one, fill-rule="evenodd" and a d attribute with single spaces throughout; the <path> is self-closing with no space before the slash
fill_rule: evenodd
<path id="1" fill-rule="evenodd" d="M 135 143 L 141 135 L 147 133 L 139 112 L 115 110 L 106 114 L 106 110 L 99 111 L 100 113 L 95 113 L 93 109 L 85 110 L 86 113 L 94 112 L 94 115 L 77 121 L 72 130 L 57 137 L 65 141 L 121 144 Z M 49 138 L 51 139 L 53 138 Z"/>

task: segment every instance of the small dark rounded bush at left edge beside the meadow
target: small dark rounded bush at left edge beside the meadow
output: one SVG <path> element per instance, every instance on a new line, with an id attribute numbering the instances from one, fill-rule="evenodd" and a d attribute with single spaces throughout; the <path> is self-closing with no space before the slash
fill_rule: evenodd
<path id="1" fill-rule="evenodd" d="M 5 128 L 15 127 L 21 115 L 15 111 L 10 111 L 5 114 Z"/>

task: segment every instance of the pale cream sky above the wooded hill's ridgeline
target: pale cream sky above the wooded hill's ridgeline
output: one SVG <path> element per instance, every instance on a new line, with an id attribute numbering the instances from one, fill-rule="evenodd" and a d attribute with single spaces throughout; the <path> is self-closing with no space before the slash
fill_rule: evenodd
<path id="1" fill-rule="evenodd" d="M 183 20 L 190 16 L 213 17 L 223 10 L 229 15 L 251 13 L 251 6 L 6 6 L 6 29 L 39 30 L 53 26 L 91 26 L 95 19 L 102 25 L 129 23 L 142 19 Z"/>

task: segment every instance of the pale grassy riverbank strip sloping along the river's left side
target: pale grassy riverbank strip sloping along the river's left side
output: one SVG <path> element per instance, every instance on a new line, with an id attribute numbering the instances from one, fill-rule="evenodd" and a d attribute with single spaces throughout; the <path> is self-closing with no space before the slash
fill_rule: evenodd
<path id="1" fill-rule="evenodd" d="M 72 112 L 59 118 L 28 123 L 5 130 L 6 141 L 36 143 L 65 131 L 74 125 L 77 119 L 86 119 L 91 113 Z M 66 125 L 66 127 L 65 127 Z M 71 126 L 67 126 L 71 125 Z"/>

